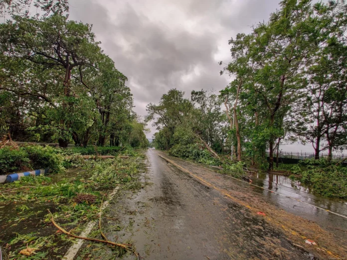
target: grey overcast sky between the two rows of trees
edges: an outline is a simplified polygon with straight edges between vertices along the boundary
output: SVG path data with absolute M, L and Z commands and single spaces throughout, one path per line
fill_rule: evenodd
M 70 1 L 70 18 L 93 24 L 97 40 L 129 79 L 135 112 L 172 88 L 224 88 L 218 60 L 230 37 L 267 19 L 277 0 Z M 150 133 L 151 136 L 154 132 Z

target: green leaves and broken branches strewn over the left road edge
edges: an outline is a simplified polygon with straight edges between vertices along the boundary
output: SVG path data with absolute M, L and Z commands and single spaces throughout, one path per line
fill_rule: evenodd
M 79 167 L 76 177 L 64 178 L 61 171 L 52 178 L 27 176 L 1 185 L 0 243 L 9 259 L 62 258 L 73 239 L 57 232 L 48 209 L 61 227 L 78 235 L 89 221 L 98 219 L 102 200 L 115 186 L 141 188 L 138 176 L 145 171 L 144 154 L 133 149 L 118 154 L 123 156 L 75 162 Z M 77 174 L 82 171 L 82 175 Z M 37 250 L 30 256 L 20 254 L 27 247 Z M 113 251 L 115 255 L 124 253 L 117 248 Z

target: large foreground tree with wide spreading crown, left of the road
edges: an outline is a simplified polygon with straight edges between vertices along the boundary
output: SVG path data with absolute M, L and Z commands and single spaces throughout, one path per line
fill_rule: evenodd
M 40 69 L 47 72 L 46 75 L 40 73 L 40 76 L 45 77 L 39 78 L 42 79 L 39 82 L 39 86 L 41 86 L 39 91 L 33 91 L 30 87 L 30 91 L 27 92 L 15 89 L 11 91 L 18 95 L 35 95 L 52 105 L 53 102 L 50 98 L 42 92 L 45 92 L 47 87 L 59 84 L 62 86 L 62 93 L 58 95 L 60 97 L 59 106 L 63 110 L 68 110 L 69 106 L 73 106 L 73 98 L 76 98 L 76 93 L 71 87 L 71 75 L 78 73 L 78 68 L 81 66 L 92 67 L 101 51 L 98 42 L 94 41 L 95 36 L 91 31 L 91 26 L 67 20 L 65 16 L 58 14 L 39 20 L 15 16 L 13 20 L 0 25 L 0 32 L 1 49 L 5 53 L 5 58 L 29 66 L 29 70 L 24 70 L 31 75 L 33 75 L 31 67 L 34 67 L 36 71 Z M 13 72 L 8 71 L 9 75 Z M 16 83 L 20 84 L 23 81 L 25 89 L 28 85 L 26 84 L 27 78 L 19 79 Z M 69 119 L 69 114 L 60 113 L 60 115 L 63 116 L 60 119 L 60 130 L 64 134 L 58 138 L 58 141 L 60 146 L 66 147 L 67 132 L 73 121 Z

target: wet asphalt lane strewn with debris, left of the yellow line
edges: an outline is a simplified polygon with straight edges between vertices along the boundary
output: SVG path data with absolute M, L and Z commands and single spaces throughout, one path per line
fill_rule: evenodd
M 137 212 L 123 222 L 133 223 L 129 239 L 144 259 L 312 259 L 263 217 L 178 170 L 157 151 L 148 150 L 147 157 L 150 185 L 118 205 Z

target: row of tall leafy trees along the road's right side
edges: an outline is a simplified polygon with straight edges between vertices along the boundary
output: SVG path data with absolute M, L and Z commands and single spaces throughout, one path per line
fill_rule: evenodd
M 268 150 L 270 169 L 285 139 L 311 143 L 316 158 L 346 148 L 346 35 L 344 1 L 283 0 L 268 22 L 229 41 L 232 61 L 221 73 L 233 81 L 219 97 L 202 91 L 186 100 L 171 90 L 148 106 L 156 145 L 200 142 L 254 163 Z

